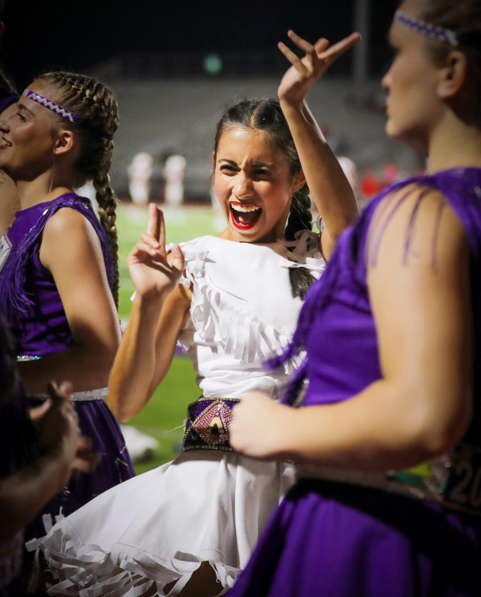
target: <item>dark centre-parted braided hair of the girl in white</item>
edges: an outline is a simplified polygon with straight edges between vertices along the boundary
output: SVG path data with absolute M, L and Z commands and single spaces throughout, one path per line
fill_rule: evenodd
M 286 155 L 291 173 L 295 175 L 301 170 L 299 155 L 278 100 L 251 98 L 230 106 L 217 125 L 215 156 L 222 136 L 235 128 L 248 128 L 266 133 Z M 312 230 L 311 199 L 307 184 L 292 197 L 284 237 L 292 241 L 300 230 Z M 290 267 L 289 279 L 293 296 L 304 298 L 315 278 L 306 267 Z

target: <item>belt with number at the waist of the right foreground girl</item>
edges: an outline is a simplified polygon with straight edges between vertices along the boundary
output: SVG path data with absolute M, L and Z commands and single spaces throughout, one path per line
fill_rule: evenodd
M 298 464 L 297 479 L 364 485 L 481 516 L 481 449 L 459 444 L 450 454 L 406 470 L 365 472 Z

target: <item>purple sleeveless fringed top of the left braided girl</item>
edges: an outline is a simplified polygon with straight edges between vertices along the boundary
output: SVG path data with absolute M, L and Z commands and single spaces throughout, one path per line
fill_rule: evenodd
M 55 281 L 39 259 L 45 224 L 63 207 L 79 211 L 94 227 L 101 242 L 108 282 L 113 288 L 107 236 L 89 199 L 67 193 L 17 211 L 7 233 L 11 251 L 0 269 L 0 312 L 17 339 L 20 355 L 48 355 L 73 343 Z

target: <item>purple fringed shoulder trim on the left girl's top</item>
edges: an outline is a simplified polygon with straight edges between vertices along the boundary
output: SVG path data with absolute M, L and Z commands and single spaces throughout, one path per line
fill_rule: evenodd
M 75 193 L 66 193 L 40 205 L 43 210 L 39 219 L 30 228 L 29 232 L 23 236 L 21 241 L 11 249 L 11 253 L 0 272 L 0 310 L 3 311 L 7 321 L 13 321 L 15 313 L 26 313 L 26 307 L 35 304 L 35 297 L 29 296 L 24 289 L 26 269 L 32 260 L 33 254 L 38 251 L 41 244 L 45 224 L 63 207 L 70 207 L 75 211 L 79 211 L 94 227 L 95 232 L 101 239 L 108 284 L 111 289 L 114 287 L 114 269 L 108 251 L 108 243 L 105 239 L 105 232 L 97 216 L 95 216 L 90 200 L 75 195 Z

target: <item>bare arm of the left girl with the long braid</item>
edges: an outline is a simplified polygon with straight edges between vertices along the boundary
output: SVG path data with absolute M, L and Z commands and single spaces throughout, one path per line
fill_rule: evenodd
M 20 363 L 27 390 L 42 393 L 50 380 L 65 378 L 74 392 L 106 386 L 120 324 L 97 234 L 82 214 L 63 208 L 45 226 L 40 259 L 54 277 L 75 344 Z

